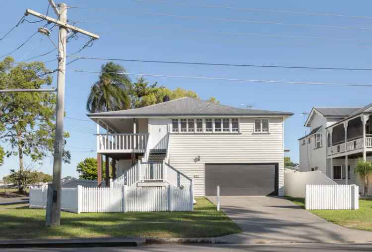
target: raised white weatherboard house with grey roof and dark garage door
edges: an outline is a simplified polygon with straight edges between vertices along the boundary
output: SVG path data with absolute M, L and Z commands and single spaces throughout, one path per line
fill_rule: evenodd
M 213 196 L 216 185 L 225 196 L 284 195 L 284 120 L 291 115 L 194 98 L 88 114 L 106 129 L 97 127 L 97 154 L 114 160 L 114 183 L 155 186 L 177 172 L 176 180 L 193 181 L 194 196 Z M 142 170 L 128 172 L 137 163 Z

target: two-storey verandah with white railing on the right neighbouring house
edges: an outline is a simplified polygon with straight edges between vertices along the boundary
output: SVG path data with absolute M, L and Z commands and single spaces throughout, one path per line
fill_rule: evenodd
M 372 155 L 372 114 L 360 113 L 326 128 L 327 174 L 349 184 L 352 165 Z M 341 164 L 342 163 L 342 164 Z

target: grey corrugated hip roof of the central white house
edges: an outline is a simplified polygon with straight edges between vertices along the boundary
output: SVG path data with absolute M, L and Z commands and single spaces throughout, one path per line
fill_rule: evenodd
M 200 99 L 184 97 L 173 101 L 166 101 L 146 107 L 119 111 L 87 114 L 88 116 L 244 116 L 244 115 L 284 115 L 291 116 L 291 112 L 269 111 L 259 109 L 236 108 Z

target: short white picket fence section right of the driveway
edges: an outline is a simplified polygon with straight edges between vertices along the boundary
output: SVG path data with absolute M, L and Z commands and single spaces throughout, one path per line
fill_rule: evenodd
M 359 187 L 356 185 L 306 185 L 305 208 L 340 210 L 359 208 Z

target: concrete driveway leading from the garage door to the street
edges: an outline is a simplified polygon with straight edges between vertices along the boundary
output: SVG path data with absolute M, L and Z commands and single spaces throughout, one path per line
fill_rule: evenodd
M 208 199 L 216 203 L 215 197 Z M 372 232 L 348 229 L 325 221 L 294 203 L 277 197 L 221 197 L 221 209 L 243 233 L 219 242 L 333 243 L 371 242 Z

